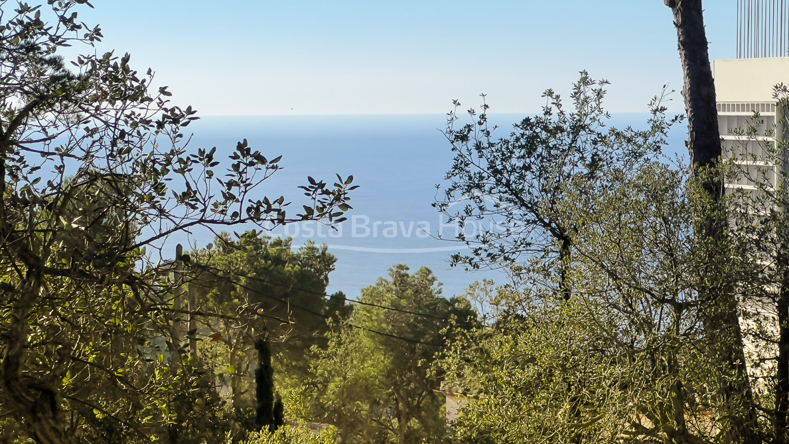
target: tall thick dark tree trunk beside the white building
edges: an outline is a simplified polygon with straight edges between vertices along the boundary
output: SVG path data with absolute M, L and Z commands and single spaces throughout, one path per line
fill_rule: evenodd
M 679 55 L 685 83 L 682 96 L 685 99 L 688 117 L 688 150 L 695 173 L 704 182 L 703 186 L 712 202 L 712 211 L 701 215 L 697 223 L 697 236 L 701 242 L 712 246 L 708 273 L 713 273 L 707 288 L 699 288 L 702 299 L 712 304 L 712 314 L 707 329 L 713 347 L 731 371 L 734 378 L 724 376 L 721 380 L 721 401 L 724 416 L 729 421 L 727 442 L 756 443 L 757 416 L 753 408 L 753 394 L 745 362 L 742 331 L 739 325 L 739 307 L 731 286 L 725 284 L 720 265 L 727 261 L 723 248 L 727 225 L 723 212 L 716 211 L 716 204 L 724 194 L 724 182 L 714 170 L 722 154 L 718 112 L 716 108 L 715 83 L 709 63 L 708 42 L 704 28 L 701 0 L 665 0 L 674 13 L 677 28 Z M 708 169 L 712 167 L 712 169 Z

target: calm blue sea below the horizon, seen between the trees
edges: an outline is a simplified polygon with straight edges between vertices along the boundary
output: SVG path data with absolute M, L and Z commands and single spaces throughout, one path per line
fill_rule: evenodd
M 495 115 L 492 120 L 502 126 L 503 136 L 511 123 L 523 117 Z M 342 224 L 342 232 L 331 237 L 314 223 L 294 225 L 288 231 L 296 245 L 308 239 L 327 243 L 337 256 L 330 292 L 342 290 L 357 297 L 361 288 L 385 276 L 391 266 L 404 263 L 412 270 L 429 267 L 443 283 L 444 295 L 456 295 L 476 280 L 503 283 L 506 276 L 451 269 L 448 258 L 462 246 L 425 232 L 435 236 L 443 231 L 448 238 L 456 232 L 431 206 L 436 184 L 443 182 L 453 157 L 439 131 L 445 119 L 443 115 L 204 117 L 189 130 L 194 132 L 192 149 L 216 146 L 219 155 L 230 154 L 236 142 L 246 138 L 252 149 L 269 159 L 282 155 L 284 169 L 264 182 L 260 198 L 284 195 L 294 201 L 290 213 L 301 208 L 297 186 L 305 184 L 308 175 L 330 183 L 335 182 L 335 172 L 354 176 L 354 184 L 361 188 L 353 192 L 352 219 Z M 643 126 L 645 119 L 646 115 L 616 115 L 614 123 Z M 672 133 L 668 152 L 685 151 L 684 134 L 684 126 Z M 275 231 L 282 234 L 282 228 Z M 189 239 L 169 242 L 202 247 L 212 240 L 211 233 L 196 231 Z

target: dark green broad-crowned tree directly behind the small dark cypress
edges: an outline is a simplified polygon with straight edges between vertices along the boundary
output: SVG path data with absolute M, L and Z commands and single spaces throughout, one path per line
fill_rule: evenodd
M 327 319 L 344 318 L 352 309 L 342 293 L 327 298 L 336 262 L 327 247 L 310 244 L 294 251 L 291 244 L 256 231 L 240 239 L 222 233 L 193 254 L 189 286 L 196 289 L 196 308 L 229 314 L 196 325 L 195 334 L 207 340 L 200 342 L 200 359 L 227 390 L 234 420 L 250 429 L 258 403 L 260 339 L 270 348 L 278 386 L 287 389 L 289 382 L 309 378 L 310 349 L 326 347 Z

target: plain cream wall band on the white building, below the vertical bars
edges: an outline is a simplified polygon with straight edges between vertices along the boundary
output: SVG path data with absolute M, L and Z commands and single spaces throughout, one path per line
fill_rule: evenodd
M 789 85 L 789 57 L 712 62 L 718 102 L 775 102 L 772 87 Z

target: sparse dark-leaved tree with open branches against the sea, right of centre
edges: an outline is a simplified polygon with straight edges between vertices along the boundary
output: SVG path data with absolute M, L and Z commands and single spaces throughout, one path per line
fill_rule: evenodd
M 482 223 L 473 235 L 462 232 L 454 239 L 470 251 L 454 255 L 454 265 L 508 268 L 516 274 L 550 268 L 555 275 L 545 284 L 570 298 L 567 273 L 578 226 L 558 211 L 567 198 L 567 185 L 578 175 L 603 179 L 611 167 L 627 169 L 655 156 L 666 144 L 671 125 L 680 119 L 665 115 L 664 94 L 651 104 L 647 130 L 610 127 L 611 116 L 603 108 L 607 84 L 581 72 L 570 108 L 557 92 L 548 90 L 548 105 L 540 115 L 526 117 L 507 137 L 499 138 L 497 128 L 488 123 L 486 103 L 481 113 L 470 109 L 471 122 L 461 124 L 460 103 L 455 102 L 444 133 L 454 163 L 443 198 L 434 206 L 464 227 L 473 220 Z M 458 203 L 465 205 L 458 210 Z

